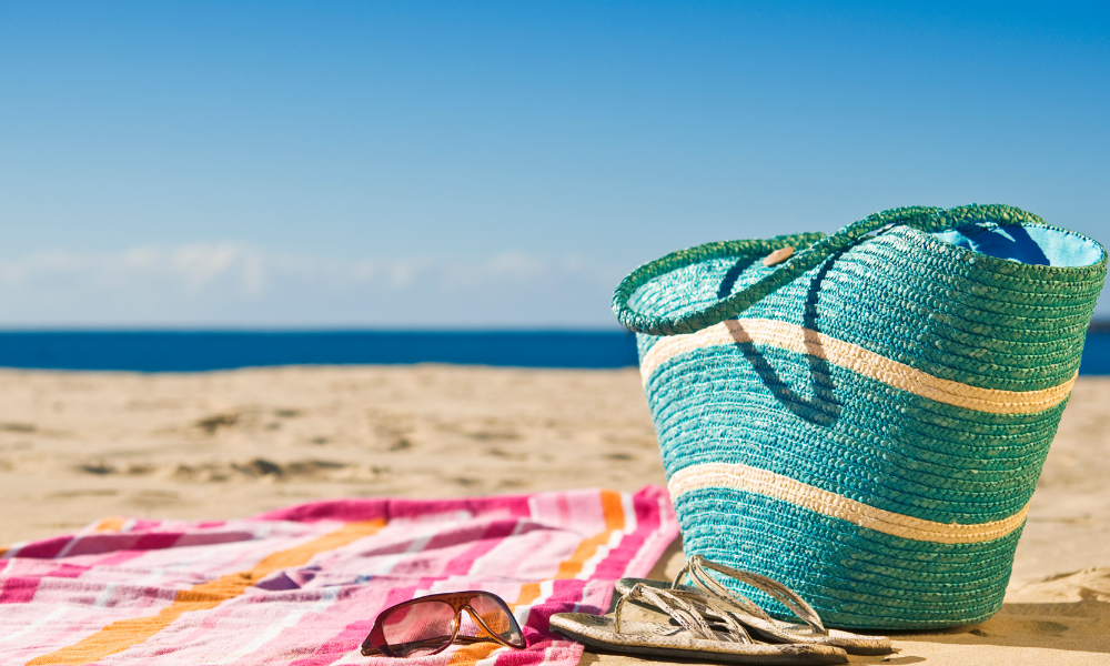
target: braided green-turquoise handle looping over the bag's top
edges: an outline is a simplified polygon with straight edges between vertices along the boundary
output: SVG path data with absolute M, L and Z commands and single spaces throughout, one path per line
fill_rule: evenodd
M 617 315 L 617 321 L 637 333 L 648 335 L 695 333 L 738 315 L 768 294 L 795 281 L 806 271 L 816 268 L 833 254 L 859 242 L 872 231 L 899 224 L 925 232 L 948 231 L 975 220 L 995 220 L 1003 225 L 1015 225 L 1022 222 L 1045 223 L 1032 213 L 1001 204 L 971 204 L 949 210 L 916 205 L 872 213 L 862 220 L 852 222 L 833 235 L 800 233 L 769 240 L 706 243 L 673 252 L 633 271 L 620 281 L 613 294 L 613 312 Z M 803 248 L 803 250 L 754 284 L 700 310 L 680 316 L 653 316 L 637 312 L 628 305 L 628 300 L 636 290 L 673 271 L 710 259 L 766 256 L 787 245 L 795 249 Z

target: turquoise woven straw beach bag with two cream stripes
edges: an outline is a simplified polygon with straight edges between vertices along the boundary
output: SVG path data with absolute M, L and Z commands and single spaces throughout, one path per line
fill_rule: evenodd
M 634 271 L 614 311 L 686 556 L 770 576 L 833 626 L 992 615 L 1106 272 L 1093 240 L 1005 205 Z

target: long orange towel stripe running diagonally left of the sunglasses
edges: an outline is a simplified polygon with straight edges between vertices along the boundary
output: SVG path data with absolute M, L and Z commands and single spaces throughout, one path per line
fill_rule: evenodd
M 183 613 L 191 610 L 208 610 L 232 599 L 280 568 L 306 564 L 319 553 L 333 551 L 341 546 L 370 536 L 385 526 L 385 521 L 366 521 L 347 523 L 343 528 L 325 534 L 306 544 L 279 551 L 268 555 L 254 568 L 221 576 L 208 583 L 182 589 L 169 606 L 158 615 L 121 619 L 114 622 L 92 636 L 69 647 L 36 657 L 27 666 L 46 666 L 47 664 L 89 664 L 109 655 L 121 653 L 129 647 L 139 645 L 170 626 Z

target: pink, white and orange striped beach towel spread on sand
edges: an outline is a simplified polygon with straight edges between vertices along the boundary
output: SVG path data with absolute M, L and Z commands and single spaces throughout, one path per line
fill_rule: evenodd
M 528 648 L 454 645 L 422 666 L 573 666 L 554 613 L 604 613 L 677 536 L 665 491 L 352 498 L 246 519 L 105 518 L 0 548 L 0 664 L 370 664 L 377 613 L 484 589 Z

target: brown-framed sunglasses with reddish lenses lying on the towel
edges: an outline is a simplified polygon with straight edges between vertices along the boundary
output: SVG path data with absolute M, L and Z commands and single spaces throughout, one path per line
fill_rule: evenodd
M 431 594 L 382 610 L 370 636 L 362 642 L 362 654 L 424 657 L 443 652 L 456 640 L 494 640 L 516 649 L 528 646 L 521 625 L 501 597 L 470 591 Z

